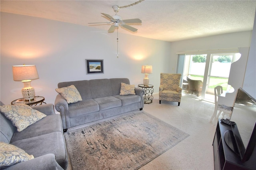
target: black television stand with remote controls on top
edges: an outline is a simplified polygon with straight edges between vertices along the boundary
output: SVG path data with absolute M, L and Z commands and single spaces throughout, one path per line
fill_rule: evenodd
M 238 131 L 236 126 L 233 127 L 235 132 Z M 213 140 L 213 151 L 214 151 L 214 169 L 215 170 L 255 170 L 256 169 L 256 148 L 252 153 L 250 159 L 246 162 L 242 162 L 240 156 L 235 153 L 225 142 L 224 134 L 226 131 L 230 133 L 232 130 L 230 125 L 226 125 L 218 120 L 214 140 Z M 227 137 L 228 134 L 226 134 Z M 230 135 L 230 134 L 229 134 Z M 236 134 L 240 136 L 239 134 Z M 230 138 L 231 139 L 231 138 Z M 232 139 L 231 139 L 232 140 Z M 234 146 L 236 147 L 236 146 Z

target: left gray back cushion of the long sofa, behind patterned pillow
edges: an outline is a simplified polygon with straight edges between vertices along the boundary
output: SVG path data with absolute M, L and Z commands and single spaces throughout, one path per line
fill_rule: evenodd
M 68 87 L 70 85 L 74 85 L 76 87 L 83 100 L 92 99 L 89 80 L 61 82 L 58 83 L 58 88 Z

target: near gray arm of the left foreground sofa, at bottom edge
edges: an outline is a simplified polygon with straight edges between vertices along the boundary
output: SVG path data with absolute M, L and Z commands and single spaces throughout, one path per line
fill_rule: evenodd
M 63 170 L 54 154 L 46 154 L 25 162 L 9 166 L 6 170 Z

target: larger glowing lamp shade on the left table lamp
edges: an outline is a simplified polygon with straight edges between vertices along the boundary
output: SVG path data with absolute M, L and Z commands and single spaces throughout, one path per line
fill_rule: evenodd
M 12 66 L 14 81 L 39 79 L 36 65 L 15 65 Z

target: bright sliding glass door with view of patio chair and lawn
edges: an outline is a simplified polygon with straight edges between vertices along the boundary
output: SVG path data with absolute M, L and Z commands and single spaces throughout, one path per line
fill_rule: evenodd
M 183 68 L 183 93 L 214 101 L 214 87 L 220 85 L 223 91 L 231 88 L 228 85 L 230 67 L 239 57 L 240 53 L 185 55 L 183 65 L 178 65 Z

